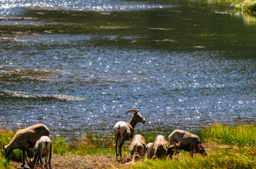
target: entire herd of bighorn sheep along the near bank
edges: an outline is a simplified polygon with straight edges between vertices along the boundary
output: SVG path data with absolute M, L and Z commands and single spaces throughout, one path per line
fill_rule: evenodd
M 200 138 L 192 133 L 184 130 L 174 130 L 169 135 L 169 143 L 171 146 L 167 146 L 164 136 L 158 135 L 154 143 L 148 143 L 140 134 L 134 136 L 134 127 L 138 122 L 145 123 L 145 119 L 141 116 L 138 109 L 130 109 L 126 112 L 133 112 L 133 117 L 129 123 L 117 122 L 115 124 L 115 157 L 122 157 L 121 147 L 125 141 L 132 139 L 131 141 L 131 155 L 133 156 L 133 162 L 145 156 L 147 152 L 147 158 L 165 158 L 173 155 L 178 155 L 180 150 L 190 152 L 193 156 L 194 153 L 201 153 L 207 155 L 205 147 L 203 146 Z M 51 169 L 51 140 L 49 139 L 50 130 L 44 124 L 36 124 L 26 129 L 20 129 L 17 131 L 12 141 L 3 146 L 5 154 L 9 154 L 14 149 L 22 150 L 22 165 L 25 166 L 25 160 L 31 169 L 36 169 L 36 166 L 40 159 L 40 167 L 42 167 L 42 157 L 46 158 L 46 167 Z M 118 152 L 117 152 L 117 143 Z M 34 148 L 33 158 L 29 158 L 29 148 Z M 175 153 L 175 154 L 174 154 Z M 25 156 L 27 158 L 25 158 Z

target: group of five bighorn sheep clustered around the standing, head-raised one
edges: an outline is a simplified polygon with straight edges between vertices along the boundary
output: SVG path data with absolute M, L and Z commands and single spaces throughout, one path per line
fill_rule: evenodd
M 190 153 L 191 157 L 193 157 L 194 153 L 200 153 L 202 155 L 207 155 L 205 147 L 203 146 L 200 138 L 192 133 L 186 132 L 184 130 L 174 130 L 168 137 L 170 147 L 167 146 L 166 140 L 164 136 L 158 135 L 154 143 L 148 143 L 146 145 L 146 141 L 140 134 L 134 135 L 134 127 L 138 122 L 145 123 L 145 119 L 141 116 L 141 113 L 138 109 L 130 109 L 126 112 L 133 112 L 133 117 L 129 123 L 127 122 L 117 122 L 115 124 L 115 157 L 122 157 L 121 155 L 121 147 L 123 143 L 132 139 L 131 141 L 131 155 L 133 156 L 133 162 L 136 159 L 144 157 L 147 152 L 147 157 L 152 158 L 165 158 L 169 155 L 172 158 L 173 155 L 178 155 L 180 150 L 184 150 Z M 118 152 L 117 152 L 117 143 Z M 174 154 L 175 153 L 175 154 Z

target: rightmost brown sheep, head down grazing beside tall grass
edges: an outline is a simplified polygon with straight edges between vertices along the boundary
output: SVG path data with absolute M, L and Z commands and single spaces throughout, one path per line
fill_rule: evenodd
M 174 144 L 176 149 L 189 152 L 191 157 L 193 157 L 194 153 L 207 155 L 205 147 L 203 146 L 200 138 L 195 134 L 186 132 L 184 130 L 174 130 L 169 135 L 168 139 L 170 144 Z

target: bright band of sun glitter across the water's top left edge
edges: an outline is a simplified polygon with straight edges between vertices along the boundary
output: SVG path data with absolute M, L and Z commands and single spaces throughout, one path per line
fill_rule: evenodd
M 48 10 L 79 10 L 79 11 L 130 11 L 147 10 L 163 7 L 174 7 L 174 5 L 151 4 L 143 1 L 121 1 L 121 0 L 1 0 L 0 13 L 2 16 L 15 15 L 22 8 L 48 9 Z

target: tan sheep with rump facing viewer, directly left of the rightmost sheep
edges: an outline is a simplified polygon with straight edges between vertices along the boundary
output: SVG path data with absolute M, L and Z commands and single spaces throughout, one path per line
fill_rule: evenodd
M 165 158 L 167 156 L 167 143 L 164 138 L 164 136 L 158 135 L 156 136 L 155 142 L 154 142 L 154 154 L 157 158 Z

